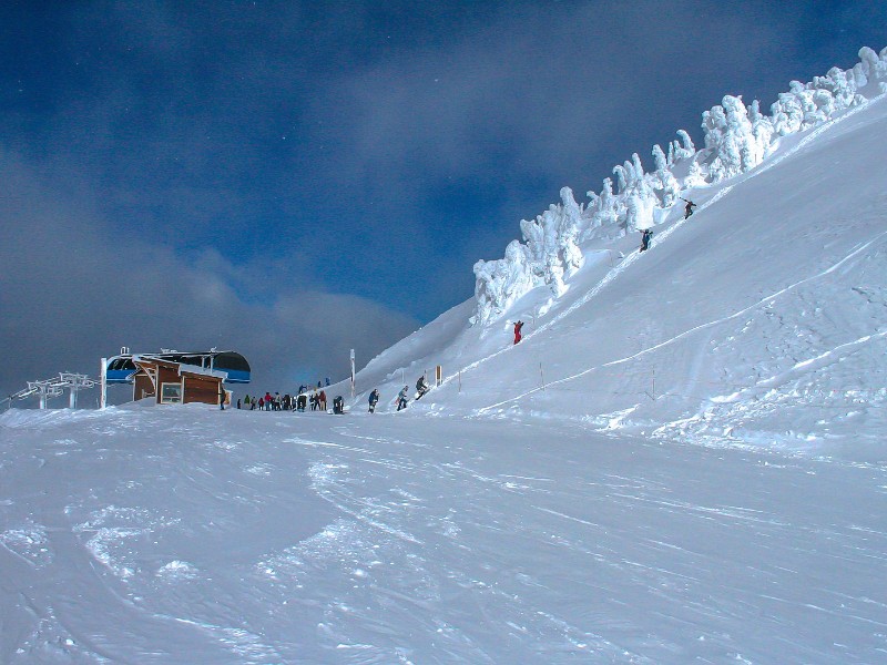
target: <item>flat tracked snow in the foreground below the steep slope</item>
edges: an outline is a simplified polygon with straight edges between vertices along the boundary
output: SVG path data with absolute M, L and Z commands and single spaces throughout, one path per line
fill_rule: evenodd
M 881 467 L 409 412 L 31 415 L 0 417 L 4 663 L 887 656 Z

